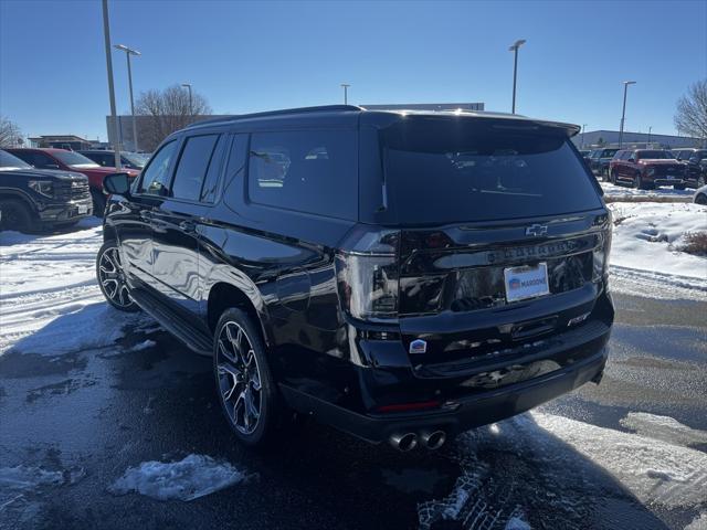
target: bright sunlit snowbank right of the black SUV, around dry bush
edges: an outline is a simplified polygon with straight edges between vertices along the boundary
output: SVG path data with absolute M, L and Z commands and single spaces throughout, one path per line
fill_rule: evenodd
M 707 206 L 643 202 L 612 203 L 610 208 L 614 219 L 614 272 L 630 275 L 637 271 L 657 283 L 680 283 L 707 290 L 707 258 L 677 250 L 686 233 L 707 231 Z

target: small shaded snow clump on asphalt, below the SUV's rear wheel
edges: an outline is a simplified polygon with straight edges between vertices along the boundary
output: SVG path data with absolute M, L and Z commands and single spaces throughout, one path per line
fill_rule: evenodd
M 125 471 L 108 490 L 115 495 L 137 491 L 158 500 L 193 500 L 247 478 L 229 463 L 189 455 L 180 462 L 144 462 Z

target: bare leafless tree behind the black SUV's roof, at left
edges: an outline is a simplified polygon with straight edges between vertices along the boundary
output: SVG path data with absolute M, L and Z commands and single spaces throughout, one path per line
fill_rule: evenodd
M 140 146 L 151 151 L 173 131 L 196 121 L 199 116 L 210 115 L 211 107 L 201 94 L 193 92 L 190 99 L 188 91 L 172 85 L 163 91 L 141 93 L 135 104 L 135 114 L 149 116 L 138 124 Z

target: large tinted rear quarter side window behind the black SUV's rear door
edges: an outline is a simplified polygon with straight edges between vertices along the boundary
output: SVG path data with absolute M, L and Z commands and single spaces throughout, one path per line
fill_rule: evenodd
M 293 130 L 251 138 L 249 199 L 331 218 L 358 216 L 356 132 Z

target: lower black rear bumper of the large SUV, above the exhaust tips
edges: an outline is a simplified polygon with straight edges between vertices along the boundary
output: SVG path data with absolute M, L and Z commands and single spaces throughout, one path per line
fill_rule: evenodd
M 540 378 L 447 402 L 442 410 L 416 414 L 359 414 L 281 385 L 291 406 L 370 443 L 381 443 L 393 434 L 444 431 L 456 435 L 469 428 L 520 414 L 582 384 L 599 381 L 606 363 L 606 348 L 573 365 Z

